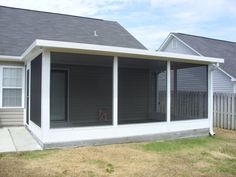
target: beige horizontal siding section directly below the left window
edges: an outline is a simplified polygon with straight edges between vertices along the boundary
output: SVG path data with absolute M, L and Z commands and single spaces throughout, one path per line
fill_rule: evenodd
M 0 109 L 0 127 L 23 126 L 23 118 L 23 108 Z

